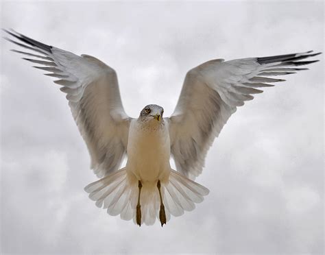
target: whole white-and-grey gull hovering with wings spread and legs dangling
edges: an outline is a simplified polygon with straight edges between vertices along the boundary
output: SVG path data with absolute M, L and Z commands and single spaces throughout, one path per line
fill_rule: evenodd
M 202 173 L 209 147 L 238 106 L 261 88 L 283 82 L 274 76 L 307 70 L 299 66 L 320 53 L 307 51 L 263 58 L 210 60 L 186 73 L 176 108 L 170 117 L 148 104 L 134 119 L 125 113 L 117 73 L 101 60 L 38 42 L 3 29 L 36 69 L 57 78 L 73 119 L 91 156 L 99 180 L 84 189 L 96 206 L 112 216 L 141 226 L 161 226 L 191 211 L 209 191 L 194 182 Z M 27 51 L 26 51 L 27 50 Z M 300 61 L 303 60 L 303 61 Z M 121 168 L 123 158 L 125 167 Z M 171 168 L 173 158 L 176 170 Z

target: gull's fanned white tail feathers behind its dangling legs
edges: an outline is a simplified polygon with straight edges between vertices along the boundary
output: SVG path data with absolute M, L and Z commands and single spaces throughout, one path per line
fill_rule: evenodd
M 96 206 L 107 209 L 112 216 L 120 215 L 121 219 L 136 223 L 136 204 L 139 188 L 129 182 L 125 168 L 86 186 L 89 197 L 96 201 Z M 171 215 L 180 216 L 184 211 L 195 208 L 195 204 L 203 201 L 208 189 L 189 180 L 177 171 L 171 170 L 168 182 L 162 182 L 161 192 L 165 204 L 167 221 Z M 152 225 L 159 219 L 160 197 L 155 183 L 144 183 L 141 191 L 141 224 Z

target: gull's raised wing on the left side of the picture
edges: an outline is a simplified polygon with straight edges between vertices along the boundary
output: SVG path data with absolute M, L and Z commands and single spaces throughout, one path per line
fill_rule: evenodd
M 59 79 L 54 82 L 67 93 L 96 175 L 101 178 L 117 171 L 128 144 L 130 118 L 123 109 L 115 71 L 92 56 L 77 56 L 17 32 L 5 32 L 11 36 L 7 40 L 33 53 L 12 51 L 28 56 L 23 59 L 49 72 L 45 75 Z

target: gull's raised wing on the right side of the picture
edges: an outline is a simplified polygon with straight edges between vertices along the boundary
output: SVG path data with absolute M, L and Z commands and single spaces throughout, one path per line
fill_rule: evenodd
M 258 88 L 285 81 L 269 76 L 306 70 L 297 66 L 318 60 L 298 60 L 320 54 L 311 52 L 227 62 L 210 60 L 191 69 L 169 117 L 171 154 L 177 170 L 189 178 L 200 175 L 208 148 L 237 106 L 263 92 Z

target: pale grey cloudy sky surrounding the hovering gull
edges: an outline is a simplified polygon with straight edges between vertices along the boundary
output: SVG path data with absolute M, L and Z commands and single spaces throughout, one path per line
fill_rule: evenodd
M 1 23 L 112 66 L 132 117 L 171 114 L 207 60 L 324 51 L 322 1 L 2 1 Z M 64 94 L 13 47 L 1 40 L 1 253 L 323 253 L 323 55 L 230 118 L 197 178 L 202 204 L 139 228 L 88 199 L 97 179 Z

